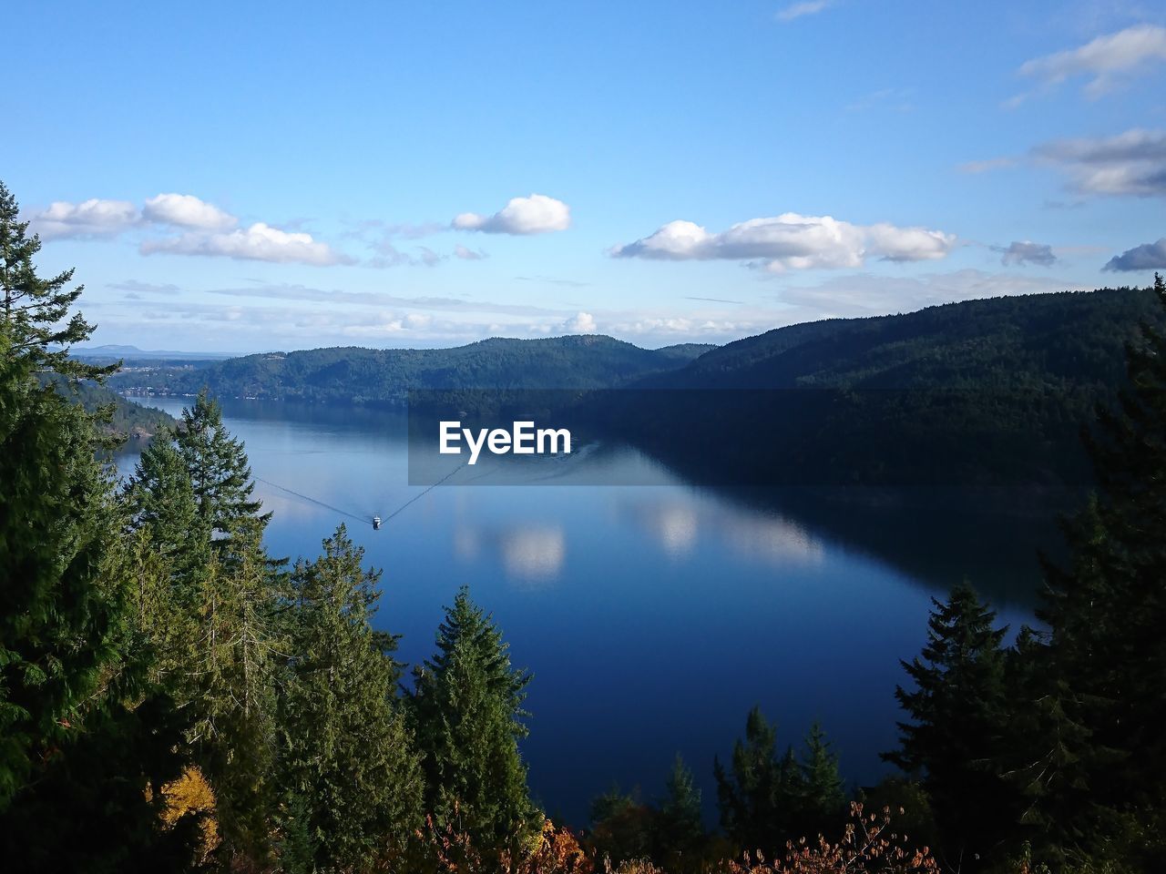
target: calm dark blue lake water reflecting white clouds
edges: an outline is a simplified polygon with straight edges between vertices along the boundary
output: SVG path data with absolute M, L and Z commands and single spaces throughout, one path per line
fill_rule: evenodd
M 183 402 L 152 403 L 177 415 Z M 401 422 L 387 414 L 247 401 L 224 413 L 255 477 L 345 513 L 385 516 L 422 492 L 406 485 Z M 410 663 L 470 585 L 534 674 L 531 785 L 577 825 L 613 782 L 656 796 L 677 752 L 711 812 L 712 757 L 729 755 L 754 704 L 782 746 L 821 720 L 848 781 L 872 782 L 895 742 L 898 660 L 923 644 L 929 599 L 967 577 L 1002 621 L 1031 621 L 1045 526 L 957 501 L 936 513 L 710 492 L 633 451 L 576 464 L 607 465 L 612 481 L 621 465 L 638 482 L 647 468 L 662 485 L 447 485 L 380 531 L 266 482 L 257 494 L 274 512 L 274 554 L 315 556 L 347 524 L 384 569 L 377 622 L 403 635 Z

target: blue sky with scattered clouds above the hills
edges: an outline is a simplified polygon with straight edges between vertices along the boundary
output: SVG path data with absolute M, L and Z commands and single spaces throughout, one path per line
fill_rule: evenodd
M 1160 2 L 16 3 L 0 179 L 92 344 L 798 322 L 1166 270 Z

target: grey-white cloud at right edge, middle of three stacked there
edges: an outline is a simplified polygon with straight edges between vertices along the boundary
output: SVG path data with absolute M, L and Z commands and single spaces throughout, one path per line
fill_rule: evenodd
M 1058 140 L 1034 154 L 1068 174 L 1081 193 L 1166 196 L 1164 131 L 1133 129 L 1102 139 Z

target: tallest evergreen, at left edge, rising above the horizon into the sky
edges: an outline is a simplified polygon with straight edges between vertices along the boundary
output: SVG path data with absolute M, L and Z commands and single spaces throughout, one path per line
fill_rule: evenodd
M 72 272 L 41 280 L 40 249 L 0 184 L 0 857 L 22 872 L 181 871 L 189 822 L 163 832 L 147 790 L 176 775 L 181 732 L 145 681 L 121 517 L 96 421 L 58 394 L 106 371 L 68 358 Z

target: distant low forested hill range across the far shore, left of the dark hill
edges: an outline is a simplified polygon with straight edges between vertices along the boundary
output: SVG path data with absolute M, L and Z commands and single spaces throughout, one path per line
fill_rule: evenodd
M 492 338 L 456 348 L 353 346 L 232 358 L 198 369 L 138 367 L 110 380 L 120 390 L 337 403 L 401 403 L 410 388 L 610 388 L 683 367 L 714 348 L 645 350 L 603 336 Z

